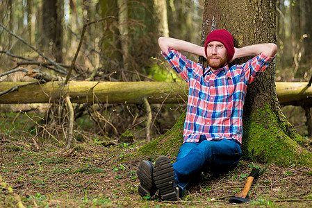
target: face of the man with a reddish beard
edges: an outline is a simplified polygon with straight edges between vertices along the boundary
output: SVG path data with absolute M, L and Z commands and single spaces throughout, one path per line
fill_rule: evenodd
M 208 65 L 215 71 L 227 65 L 227 49 L 224 44 L 218 41 L 209 42 L 207 45 L 207 62 Z

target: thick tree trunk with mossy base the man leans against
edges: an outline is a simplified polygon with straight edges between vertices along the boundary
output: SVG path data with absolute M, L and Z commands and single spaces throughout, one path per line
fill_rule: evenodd
M 204 37 L 213 29 L 226 28 L 233 35 L 236 47 L 276 42 L 276 17 L 276 1 L 205 1 Z M 182 141 L 183 116 L 170 132 L 143 146 L 140 153 L 175 157 Z M 244 159 L 283 166 L 293 163 L 311 166 L 311 153 L 299 146 L 303 143 L 302 137 L 279 108 L 274 85 L 274 63 L 247 89 L 243 132 Z

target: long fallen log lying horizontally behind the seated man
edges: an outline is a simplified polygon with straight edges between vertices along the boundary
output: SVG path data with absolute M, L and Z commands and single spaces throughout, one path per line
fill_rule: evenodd
M 277 97 L 281 105 L 312 103 L 312 87 L 308 83 L 276 83 Z M 23 85 L 22 87 L 16 87 Z M 0 103 L 53 103 L 69 96 L 72 103 L 186 103 L 186 83 L 170 82 L 88 82 L 71 81 L 49 83 L 0 83 Z

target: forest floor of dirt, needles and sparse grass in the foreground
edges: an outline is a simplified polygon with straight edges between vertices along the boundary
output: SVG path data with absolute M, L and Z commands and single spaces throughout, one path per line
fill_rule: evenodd
M 243 205 L 229 204 L 242 191 L 252 168 L 241 161 L 223 175 L 205 175 L 179 202 L 138 195 L 139 146 L 76 144 L 71 150 L 2 141 L 0 207 L 312 207 L 311 169 L 271 164 L 254 181 Z M 172 158 L 174 161 L 174 158 Z M 12 189 L 10 189 L 10 187 Z

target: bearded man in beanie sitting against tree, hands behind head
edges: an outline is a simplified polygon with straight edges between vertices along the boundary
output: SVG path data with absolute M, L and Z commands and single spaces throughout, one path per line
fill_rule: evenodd
M 237 166 L 247 86 L 272 62 L 277 46 L 235 48 L 232 35 L 224 29 L 209 33 L 204 47 L 170 37 L 160 37 L 158 44 L 170 66 L 188 83 L 183 144 L 174 164 L 165 156 L 158 157 L 155 166 L 147 160 L 139 164 L 138 193 L 153 196 L 159 189 L 163 200 L 175 201 L 202 172 L 221 173 Z M 208 67 L 179 51 L 204 56 Z M 247 56 L 254 58 L 229 67 L 236 58 Z

